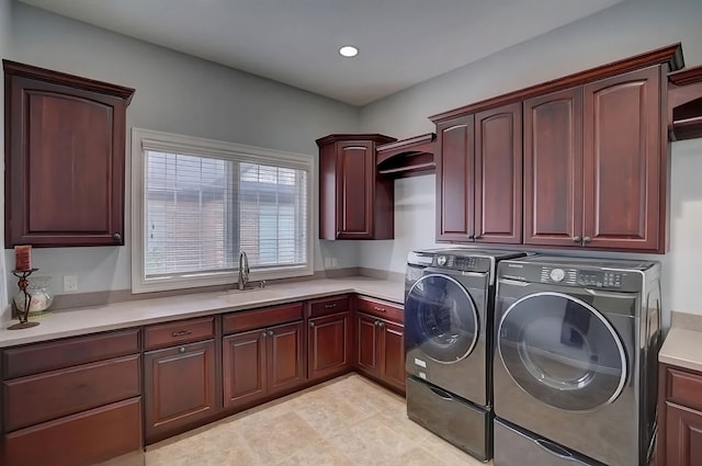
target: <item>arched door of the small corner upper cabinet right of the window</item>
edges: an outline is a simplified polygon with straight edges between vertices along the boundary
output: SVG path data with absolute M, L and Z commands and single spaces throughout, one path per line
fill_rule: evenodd
M 337 143 L 337 238 L 373 238 L 375 157 L 372 143 Z

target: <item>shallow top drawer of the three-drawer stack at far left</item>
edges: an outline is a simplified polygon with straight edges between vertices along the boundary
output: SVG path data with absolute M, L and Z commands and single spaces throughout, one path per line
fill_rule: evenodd
M 11 348 L 2 355 L 4 378 L 109 360 L 139 351 L 139 329 Z

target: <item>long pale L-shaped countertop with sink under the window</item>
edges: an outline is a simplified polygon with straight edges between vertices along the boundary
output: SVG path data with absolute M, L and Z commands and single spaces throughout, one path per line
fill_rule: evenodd
M 401 304 L 404 282 L 349 276 L 272 284 L 262 289 L 245 292 L 199 293 L 152 299 L 137 299 L 105 306 L 61 309 L 41 318 L 37 327 L 0 330 L 0 348 L 54 340 L 86 333 L 137 327 L 189 317 L 207 316 L 234 310 L 314 299 L 341 293 L 386 299 Z M 16 320 L 11 323 L 15 323 Z

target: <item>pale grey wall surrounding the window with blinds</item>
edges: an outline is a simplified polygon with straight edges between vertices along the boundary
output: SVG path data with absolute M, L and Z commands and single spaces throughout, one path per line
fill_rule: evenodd
M 350 105 L 24 3 L 13 7 L 13 47 L 5 50 L 8 58 L 135 88 L 127 129 L 136 126 L 312 155 L 318 151 L 316 138 L 358 130 L 359 111 Z M 1 24 L 0 31 L 5 31 Z M 127 143 L 127 156 L 128 148 Z M 127 161 L 127 206 L 129 167 Z M 129 288 L 128 208 L 125 218 L 124 247 L 34 249 L 37 275 L 49 276 L 55 293 L 63 293 L 61 276 L 67 274 L 78 275 L 79 292 Z M 317 270 L 322 268 L 320 248 L 316 242 Z M 344 255 L 342 246 L 327 246 L 324 252 Z M 11 250 L 5 258 L 12 266 Z

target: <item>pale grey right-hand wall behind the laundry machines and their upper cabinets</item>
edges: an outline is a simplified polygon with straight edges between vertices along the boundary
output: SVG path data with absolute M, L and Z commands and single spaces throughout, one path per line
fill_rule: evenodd
M 702 64 L 701 19 L 699 0 L 629 0 L 370 104 L 361 130 L 399 138 L 432 132 L 429 115 L 678 42 L 693 67 Z M 670 252 L 642 255 L 663 262 L 666 322 L 670 309 L 702 315 L 700 173 L 702 139 L 673 143 Z M 395 182 L 396 239 L 362 243 L 361 266 L 401 272 L 410 249 L 435 246 L 433 183 L 433 175 Z

